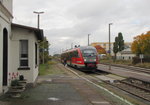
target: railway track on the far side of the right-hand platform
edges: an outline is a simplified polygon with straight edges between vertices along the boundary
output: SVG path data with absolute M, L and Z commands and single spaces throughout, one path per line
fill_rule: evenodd
M 102 64 L 109 65 L 108 63 L 102 63 Z M 150 69 L 147 69 L 147 68 L 140 68 L 140 67 L 134 67 L 134 66 L 126 66 L 126 65 L 120 65 L 120 64 L 111 64 L 111 66 L 126 68 L 126 69 L 129 69 L 129 70 L 132 70 L 132 71 L 137 71 L 137 72 L 142 72 L 142 73 L 150 74 Z

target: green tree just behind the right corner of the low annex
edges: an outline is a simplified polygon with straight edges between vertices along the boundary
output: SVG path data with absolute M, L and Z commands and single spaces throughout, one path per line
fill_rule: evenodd
M 44 40 L 40 42 L 39 49 L 40 49 L 40 63 L 46 63 L 49 60 L 49 42 L 46 37 Z

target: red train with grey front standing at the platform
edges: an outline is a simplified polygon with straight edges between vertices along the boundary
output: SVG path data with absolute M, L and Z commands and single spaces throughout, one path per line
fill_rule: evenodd
M 97 50 L 92 46 L 67 50 L 61 54 L 61 62 L 76 68 L 96 69 L 98 64 Z

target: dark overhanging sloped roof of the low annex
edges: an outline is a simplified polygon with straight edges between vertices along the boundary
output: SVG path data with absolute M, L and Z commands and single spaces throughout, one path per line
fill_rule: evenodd
M 44 39 L 44 34 L 43 34 L 43 30 L 42 29 L 29 27 L 29 26 L 24 26 L 24 25 L 15 24 L 15 23 L 12 23 L 11 27 L 18 27 L 18 28 L 23 28 L 23 29 L 34 31 L 34 33 L 35 33 L 35 35 L 36 35 L 38 40 L 42 41 Z

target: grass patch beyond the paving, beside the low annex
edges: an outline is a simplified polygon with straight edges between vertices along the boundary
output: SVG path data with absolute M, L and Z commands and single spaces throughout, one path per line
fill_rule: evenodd
M 39 68 L 39 75 L 56 75 L 63 74 L 64 72 L 58 68 L 57 62 L 49 61 L 46 64 L 41 64 Z

